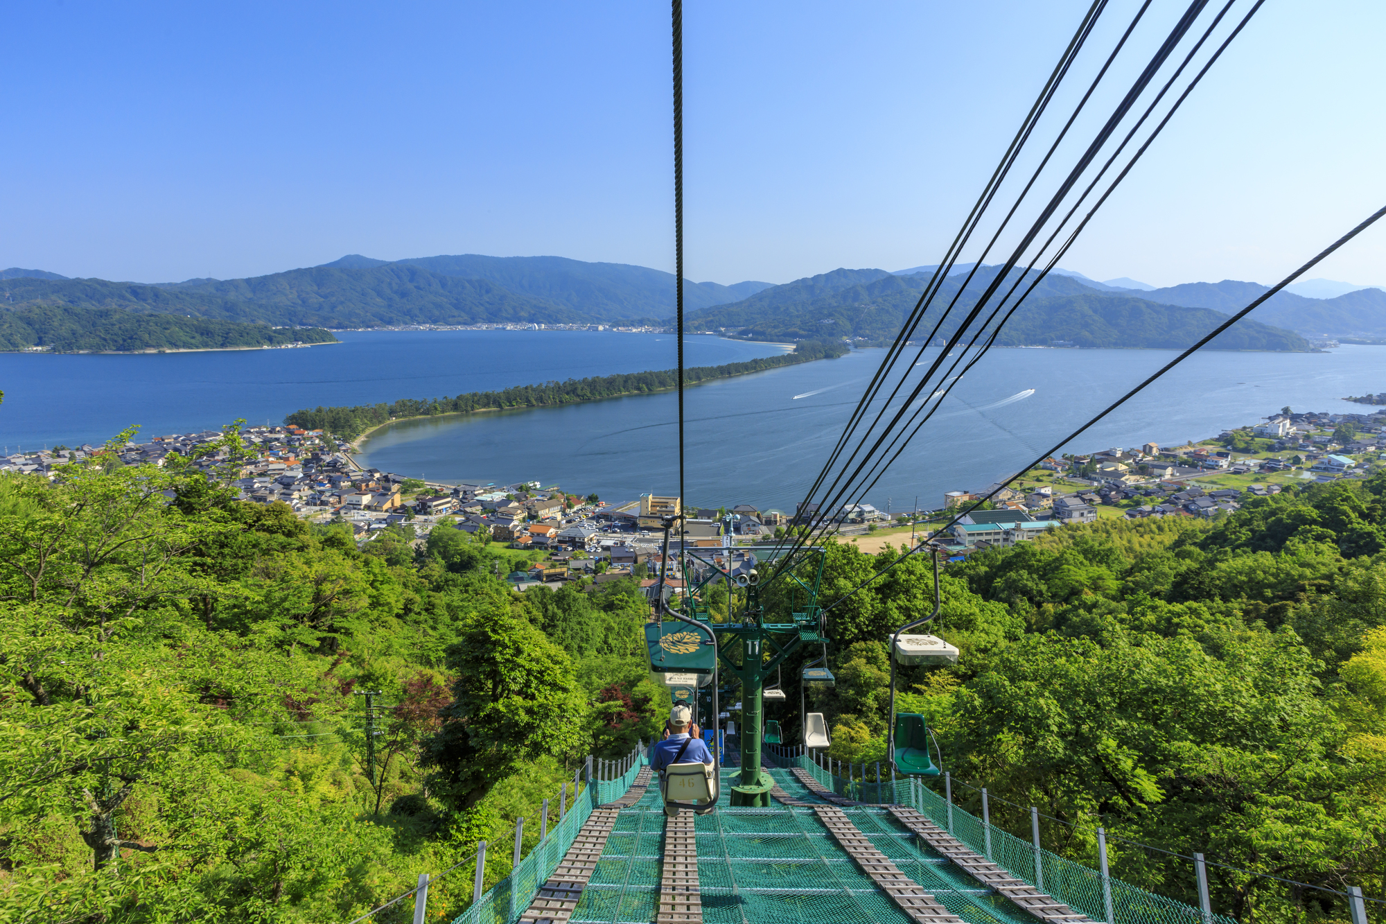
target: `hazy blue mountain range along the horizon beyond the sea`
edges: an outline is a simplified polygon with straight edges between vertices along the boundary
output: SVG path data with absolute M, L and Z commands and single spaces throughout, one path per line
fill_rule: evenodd
M 958 296 L 972 264 L 944 286 Z M 936 266 L 902 271 L 837 269 L 775 286 L 685 286 L 689 329 L 789 340 L 823 336 L 893 339 Z M 959 297 L 969 307 L 995 266 L 977 271 Z M 298 327 L 377 327 L 473 323 L 668 323 L 674 275 L 626 264 L 563 257 L 480 254 L 384 261 L 348 254 L 322 266 L 249 279 L 129 283 L 67 279 L 39 269 L 0 271 L 0 302 L 11 309 L 64 307 L 179 315 L 234 323 Z M 1303 291 L 1339 291 L 1350 283 L 1306 280 Z M 1056 269 L 1008 323 L 1008 345 L 1071 341 L 1078 345 L 1149 347 L 1192 341 L 1225 314 L 1267 291 L 1249 282 L 1185 283 L 1156 289 L 1130 277 L 1098 282 Z M 96 315 L 87 315 L 96 318 Z M 42 316 L 35 316 L 42 322 Z M 1278 293 L 1218 345 L 1234 350 L 1306 350 L 1303 334 L 1386 336 L 1386 291 L 1353 289 L 1326 298 Z M 24 325 L 29 327 L 30 325 Z M 944 327 L 944 333 L 948 333 Z M 8 337 L 14 341 L 15 336 Z M 37 330 L 36 336 L 44 336 Z M 918 336 L 923 336 L 920 332 Z

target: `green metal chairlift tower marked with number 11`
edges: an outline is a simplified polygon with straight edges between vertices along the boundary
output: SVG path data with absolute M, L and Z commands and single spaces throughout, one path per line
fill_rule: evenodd
M 664 548 L 669 529 L 665 522 Z M 668 562 L 668 551 L 664 561 Z M 708 674 L 730 671 L 742 685 L 742 766 L 732 787 L 733 806 L 771 805 L 775 782 L 761 770 L 766 678 L 801 645 L 826 645 L 818 587 L 825 551 L 779 545 L 687 547 L 679 551 L 685 594 L 678 609 L 657 594 L 661 617 L 644 628 L 650 670 Z M 661 570 L 663 573 L 663 570 Z M 715 609 L 708 597 L 725 585 L 726 602 Z M 714 678 L 715 695 L 718 681 Z M 714 723 L 717 721 L 714 706 Z

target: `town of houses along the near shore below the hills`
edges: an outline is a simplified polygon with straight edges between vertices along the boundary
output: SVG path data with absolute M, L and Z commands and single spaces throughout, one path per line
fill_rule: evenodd
M 211 470 L 229 461 L 226 448 L 211 445 L 222 436 L 218 430 L 161 436 L 129 444 L 118 456 L 126 465 L 164 465 L 170 454 L 198 455 L 197 463 Z M 240 476 L 234 486 L 241 499 L 284 504 L 304 519 L 345 524 L 360 545 L 392 527 L 420 548 L 435 529 L 462 530 L 523 554 L 510 558 L 516 569 L 509 580 L 517 590 L 575 580 L 599 585 L 631 577 L 653 588 L 663 522 L 685 513 L 676 497 L 643 494 L 608 504 L 595 494 L 570 494 L 539 481 L 441 483 L 363 469 L 349 444 L 320 430 L 247 427 L 241 441 L 244 458 L 233 472 Z M 61 465 L 105 452 L 90 444 L 15 452 L 0 456 L 0 470 L 54 477 Z M 1196 444 L 1166 448 L 1146 443 L 1049 458 L 1005 484 L 948 491 L 937 509 L 893 513 L 869 504 L 830 512 L 801 504 L 793 515 L 750 504 L 689 509 L 682 537 L 671 544 L 665 585 L 674 594 L 682 590 L 681 545 L 751 547 L 775 542 L 796 527 L 830 526 L 845 536 L 902 531 L 934 538 L 956 561 L 1099 517 L 1217 517 L 1236 511 L 1246 498 L 1278 494 L 1286 484 L 1362 479 L 1382 465 L 1386 409 L 1295 413 L 1285 408 L 1257 425 Z M 750 548 L 732 556 L 733 570 L 755 563 Z

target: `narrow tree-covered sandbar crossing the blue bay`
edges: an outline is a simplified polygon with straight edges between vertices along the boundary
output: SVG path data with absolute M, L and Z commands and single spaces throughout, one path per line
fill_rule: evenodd
M 714 379 L 729 379 L 751 372 L 765 372 L 780 366 L 793 366 L 814 359 L 830 359 L 848 351 L 843 343 L 804 340 L 793 352 L 746 362 L 729 362 L 721 366 L 694 366 L 683 370 L 685 384 L 699 384 Z M 473 413 L 475 411 L 505 411 L 509 408 L 547 408 L 561 404 L 579 404 L 602 398 L 620 398 L 631 394 L 653 394 L 678 387 L 678 369 L 660 372 L 628 372 L 614 376 L 593 376 L 589 379 L 568 379 L 567 382 L 546 382 L 534 386 L 516 386 L 502 391 L 470 391 L 455 398 L 403 398 L 394 404 L 360 404 L 355 407 L 331 407 L 295 411 L 284 418 L 284 423 L 305 430 L 324 430 L 342 440 L 355 440 L 392 420 L 406 418 L 431 418 L 446 413 Z

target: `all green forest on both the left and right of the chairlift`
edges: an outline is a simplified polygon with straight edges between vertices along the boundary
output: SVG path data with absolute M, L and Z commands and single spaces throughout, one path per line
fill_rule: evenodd
M 446 524 L 358 548 L 231 499 L 234 431 L 220 454 L 211 483 L 177 456 L 0 479 L 6 920 L 341 924 L 509 819 L 529 813 L 532 844 L 532 812 L 584 755 L 654 733 L 667 698 L 633 583 L 520 595 L 495 577 L 514 552 Z M 1383 495 L 1386 476 L 1339 481 L 1213 524 L 1064 527 L 979 554 L 942 577 L 936 631 L 962 659 L 904 669 L 901 706 L 930 716 L 960 801 L 985 785 L 997 824 L 1028 834 L 1009 801 L 1076 825 L 1045 821 L 1060 853 L 1091 862 L 1102 824 L 1378 892 Z M 891 558 L 829 541 L 823 601 Z M 916 555 L 829 612 L 837 687 L 809 702 L 834 758 L 883 759 L 883 640 L 930 604 Z M 769 717 L 797 739 L 796 703 Z M 1114 874 L 1191 898 L 1181 862 L 1112 853 Z M 488 856 L 491 882 L 509 852 Z M 1211 877 L 1214 906 L 1245 921 L 1346 920 L 1332 896 Z M 441 880 L 430 907 L 450 918 L 470 882 Z

